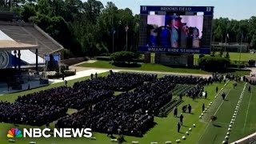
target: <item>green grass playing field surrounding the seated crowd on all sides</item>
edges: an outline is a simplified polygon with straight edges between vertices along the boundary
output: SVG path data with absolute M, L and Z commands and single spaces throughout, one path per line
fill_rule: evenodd
M 105 74 L 99 74 L 99 75 L 106 75 Z M 88 78 L 88 77 L 86 77 Z M 68 82 L 69 86 L 72 86 L 74 82 L 82 81 L 82 79 L 86 78 L 79 78 L 75 79 L 73 81 Z M 154 128 L 149 130 L 143 138 L 134 138 L 134 137 L 128 137 L 125 136 L 126 143 L 131 143 L 132 141 L 138 141 L 139 143 L 146 144 L 150 142 L 158 142 L 158 143 L 165 143 L 166 141 L 172 141 L 174 142 L 176 139 L 182 139 L 183 135 L 186 135 L 186 131 L 189 130 L 189 128 L 192 128 L 192 131 L 190 132 L 189 136 L 186 136 L 186 140 L 182 140 L 182 143 L 220 143 L 225 138 L 226 134 L 226 126 L 228 126 L 231 116 L 234 113 L 234 106 L 236 106 L 236 103 L 238 102 L 238 98 L 240 96 L 240 93 L 242 91 L 242 88 L 245 83 L 238 83 L 238 86 L 236 89 L 233 89 L 232 87 L 233 82 L 229 82 L 228 85 L 225 87 L 224 90 L 230 90 L 230 93 L 227 96 L 227 100 L 225 102 L 222 102 L 222 99 L 220 97 L 214 98 L 216 95 L 215 87 L 218 86 L 219 88 L 224 86 L 224 83 L 214 83 L 210 86 L 205 86 L 205 90 L 208 92 L 208 98 L 198 98 L 196 102 L 193 102 L 191 98 L 183 98 L 184 102 L 182 102 L 181 105 L 178 106 L 178 114 L 181 113 L 181 107 L 190 104 L 192 106 L 192 114 L 183 114 L 184 115 L 184 122 L 181 133 L 177 132 L 177 123 L 178 118 L 173 117 L 173 113 L 171 112 L 167 118 L 155 118 L 154 121 L 157 123 Z M 28 94 L 34 91 L 38 90 L 45 90 L 49 89 L 54 86 L 62 86 L 63 83 L 59 84 L 53 84 L 50 86 L 46 86 L 43 88 L 38 88 L 34 90 L 24 91 L 21 93 L 16 94 L 6 94 L 0 97 L 0 100 L 6 100 L 10 102 L 14 102 L 15 98 L 18 97 L 18 95 L 22 94 Z M 252 87 L 252 90 L 255 90 L 256 86 Z M 247 89 L 246 89 L 247 90 Z M 256 102 L 256 98 L 252 97 L 255 92 L 252 94 L 245 92 L 244 98 L 242 99 L 241 107 L 238 111 L 238 117 L 236 122 L 234 122 L 234 131 L 231 131 L 230 134 L 230 140 L 235 140 L 238 138 L 242 138 L 248 134 L 251 134 L 254 132 L 254 126 L 256 123 L 256 116 L 254 113 L 255 106 L 254 103 Z M 118 94 L 118 93 L 117 93 Z M 210 111 L 209 113 L 205 115 L 206 118 L 199 119 L 198 116 L 202 113 L 202 103 L 205 103 L 206 106 L 210 103 L 214 102 L 212 106 L 212 113 L 215 113 L 215 111 L 218 109 L 216 123 L 222 127 L 215 127 L 212 126 L 210 123 Z M 221 105 L 222 104 L 222 105 Z M 221 106 L 220 106 L 221 105 Z M 246 112 L 248 111 L 248 112 Z M 69 110 L 68 113 L 73 113 L 74 110 Z M 245 119 L 246 117 L 246 119 Z M 246 121 L 246 124 L 244 125 Z M 210 123 L 210 124 L 209 124 Z M 193 127 L 192 125 L 196 124 L 196 127 Z M 53 125 L 50 125 L 53 126 Z M 241 129 L 243 126 L 245 128 L 243 130 Z M 7 131 L 10 130 L 11 127 L 14 127 L 13 124 L 6 124 L 6 123 L 0 123 L 0 143 L 1 144 L 7 144 L 8 138 L 6 138 Z M 30 126 L 18 126 L 19 129 L 22 129 L 22 127 L 30 127 Z M 43 128 L 44 126 L 42 126 Z M 217 136 L 216 136 L 217 135 Z M 37 142 L 38 144 L 70 144 L 70 143 L 76 143 L 76 144 L 110 144 L 113 142 L 110 142 L 110 138 L 106 137 L 106 134 L 99 134 L 94 133 L 94 137 L 97 138 L 97 140 L 90 140 L 88 138 L 15 138 L 16 142 L 18 144 L 28 144 L 30 141 Z M 213 138 L 214 137 L 214 138 Z M 215 138 L 216 137 L 216 138 Z M 198 142 L 198 140 L 200 141 Z

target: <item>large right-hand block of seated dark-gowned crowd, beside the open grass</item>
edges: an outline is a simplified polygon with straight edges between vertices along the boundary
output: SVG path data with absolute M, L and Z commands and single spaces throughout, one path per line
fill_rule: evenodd
M 93 109 L 61 118 L 57 127 L 90 127 L 94 131 L 142 136 L 154 126 L 154 115 L 172 99 L 176 84 L 206 84 L 207 78 L 166 76 L 144 82 L 133 91 L 98 102 Z

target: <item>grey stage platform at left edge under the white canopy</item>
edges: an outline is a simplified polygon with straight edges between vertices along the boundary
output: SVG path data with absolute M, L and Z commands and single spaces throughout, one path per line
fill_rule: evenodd
M 50 84 L 50 82 L 49 82 L 49 84 Z M 0 82 L 0 96 L 2 94 L 11 94 L 11 93 L 17 93 L 20 91 L 27 90 L 29 85 L 30 85 L 30 89 L 34 89 L 34 88 L 38 88 L 38 87 L 42 87 L 42 86 L 48 86 L 46 84 L 40 84 L 39 79 L 38 79 L 38 80 L 33 80 L 33 81 L 26 82 L 25 84 L 22 84 L 22 90 L 11 90 L 11 87 L 10 87 L 10 90 L 8 90 L 7 84 Z

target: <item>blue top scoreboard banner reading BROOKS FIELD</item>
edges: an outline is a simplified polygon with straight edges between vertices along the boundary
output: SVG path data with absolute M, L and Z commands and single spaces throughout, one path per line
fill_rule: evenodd
M 181 12 L 205 12 L 214 13 L 214 6 L 141 6 L 141 14 L 149 11 L 181 11 Z

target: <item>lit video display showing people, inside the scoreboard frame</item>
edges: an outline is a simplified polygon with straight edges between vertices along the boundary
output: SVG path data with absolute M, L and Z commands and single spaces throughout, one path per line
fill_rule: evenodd
M 148 15 L 147 46 L 199 48 L 203 16 Z

